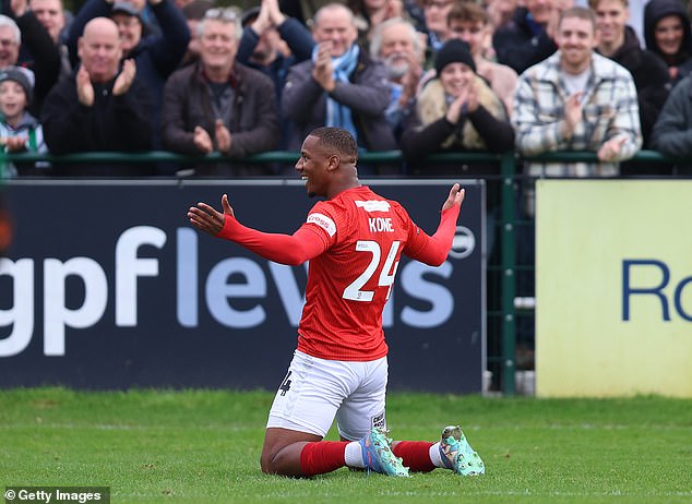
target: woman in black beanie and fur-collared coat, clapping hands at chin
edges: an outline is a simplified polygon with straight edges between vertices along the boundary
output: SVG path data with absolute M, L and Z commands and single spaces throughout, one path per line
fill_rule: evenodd
M 402 154 L 414 175 L 482 175 L 488 166 L 425 166 L 438 152 L 490 151 L 502 153 L 514 145 L 514 130 L 504 105 L 476 74 L 468 45 L 450 39 L 434 60 L 436 77 L 419 93 L 402 140 Z M 434 170 L 434 173 L 431 172 Z

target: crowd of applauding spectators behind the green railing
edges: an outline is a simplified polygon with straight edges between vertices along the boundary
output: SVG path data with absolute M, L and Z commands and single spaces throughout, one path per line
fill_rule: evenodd
M 402 152 L 366 175 L 497 173 L 426 161 L 445 152 L 596 153 L 526 166 L 576 177 L 629 175 L 641 148 L 692 156 L 681 0 L 637 1 L 642 26 L 628 0 L 220 1 L 85 0 L 72 13 L 62 0 L 3 2 L 4 152 L 222 155 L 174 168 L 4 164 L 4 176 L 271 176 L 282 169 L 243 158 L 297 152 L 321 125 L 365 152 Z M 690 173 L 655 173 L 673 169 Z

